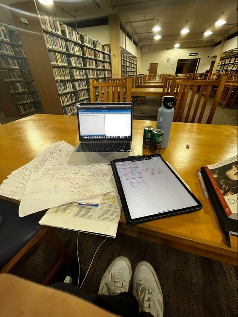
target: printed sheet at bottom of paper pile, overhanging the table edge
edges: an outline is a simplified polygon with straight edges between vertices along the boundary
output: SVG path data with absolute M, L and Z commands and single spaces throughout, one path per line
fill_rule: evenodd
M 81 205 L 75 202 L 50 208 L 39 221 L 41 225 L 115 237 L 121 214 L 121 201 L 114 177 L 113 192 L 103 194 L 100 204 Z

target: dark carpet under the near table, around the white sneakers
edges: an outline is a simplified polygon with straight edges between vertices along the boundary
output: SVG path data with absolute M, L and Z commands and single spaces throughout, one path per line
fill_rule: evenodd
M 74 257 L 71 270 L 63 270 L 56 281 L 63 281 L 63 276 L 69 274 L 76 285 L 77 233 L 63 229 L 55 231 Z M 79 234 L 82 277 L 103 240 L 104 237 L 101 236 Z M 115 239 L 107 239 L 101 246 L 82 288 L 90 293 L 97 293 L 104 271 L 117 256 L 126 256 L 131 262 L 132 270 L 140 261 L 148 261 L 153 265 L 163 291 L 164 317 L 237 316 L 237 280 L 231 265 L 123 234 L 117 234 Z M 44 245 L 19 275 L 40 282 L 53 260 L 51 248 Z

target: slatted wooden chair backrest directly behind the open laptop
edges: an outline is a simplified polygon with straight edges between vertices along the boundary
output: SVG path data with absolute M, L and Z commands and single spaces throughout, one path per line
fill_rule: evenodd
M 132 79 L 126 78 L 120 82 L 96 82 L 90 79 L 90 97 L 91 102 L 131 102 Z

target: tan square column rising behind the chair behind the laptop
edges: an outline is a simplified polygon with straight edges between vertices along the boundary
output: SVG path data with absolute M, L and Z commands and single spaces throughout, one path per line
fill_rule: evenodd
M 108 16 L 109 39 L 111 45 L 112 78 L 121 77 L 120 19 L 117 14 Z

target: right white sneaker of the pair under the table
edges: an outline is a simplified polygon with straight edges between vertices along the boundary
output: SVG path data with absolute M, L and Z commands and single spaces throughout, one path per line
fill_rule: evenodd
M 132 293 L 139 302 L 140 311 L 150 312 L 154 317 L 163 317 L 163 294 L 150 263 L 142 261 L 137 264 L 132 280 Z

